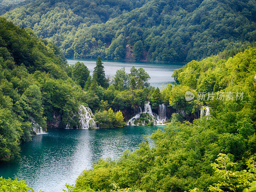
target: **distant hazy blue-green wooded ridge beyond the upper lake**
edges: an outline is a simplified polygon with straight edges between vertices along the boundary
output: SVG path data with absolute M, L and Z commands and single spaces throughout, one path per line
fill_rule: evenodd
M 66 58 L 190 61 L 256 40 L 256 1 L 45 1 L 6 12 Z

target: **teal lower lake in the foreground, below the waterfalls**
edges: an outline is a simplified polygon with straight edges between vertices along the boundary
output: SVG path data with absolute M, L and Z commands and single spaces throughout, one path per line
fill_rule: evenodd
M 61 192 L 65 183 L 75 184 L 94 161 L 118 159 L 124 150 L 133 151 L 150 135 L 165 126 L 125 126 L 116 129 L 58 129 L 33 136 L 21 144 L 20 157 L 0 164 L 4 178 L 26 180 L 35 191 Z M 152 144 L 152 141 L 150 141 Z

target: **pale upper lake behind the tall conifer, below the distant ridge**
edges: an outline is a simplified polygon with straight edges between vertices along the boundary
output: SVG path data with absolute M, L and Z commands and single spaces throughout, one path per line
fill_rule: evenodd
M 96 66 L 96 60 L 93 59 L 67 59 L 69 65 L 74 65 L 77 61 L 83 62 L 86 65 L 92 75 L 93 68 Z M 163 83 L 174 84 L 172 78 L 173 71 L 181 68 L 185 63 L 159 63 L 159 62 L 139 62 L 139 61 L 115 61 L 115 60 L 102 60 L 105 67 L 105 74 L 113 76 L 116 74 L 116 70 L 125 68 L 127 73 L 130 73 L 132 66 L 135 68 L 142 67 L 149 74 L 151 79 L 150 85 L 154 87 L 162 88 Z

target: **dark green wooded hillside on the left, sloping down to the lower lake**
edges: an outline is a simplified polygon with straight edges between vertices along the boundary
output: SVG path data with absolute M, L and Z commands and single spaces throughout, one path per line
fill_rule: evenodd
M 76 125 L 72 117 L 84 101 L 59 48 L 4 18 L 0 26 L 0 161 L 7 161 L 31 140 L 33 127 L 44 129 L 55 115 L 59 126 Z

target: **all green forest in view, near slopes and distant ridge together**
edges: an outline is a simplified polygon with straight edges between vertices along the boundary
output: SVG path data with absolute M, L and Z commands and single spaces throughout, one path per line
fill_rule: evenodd
M 166 128 L 116 160 L 94 161 L 64 192 L 256 191 L 254 0 L 0 3 L 1 165 L 20 156 L 34 127 L 81 128 L 81 106 L 107 132 L 150 102 L 172 109 Z M 93 58 L 92 75 L 66 58 Z M 109 78 L 102 59 L 188 63 L 174 85 L 155 88 L 142 67 Z M 0 173 L 0 192 L 20 191 L 34 190 Z

